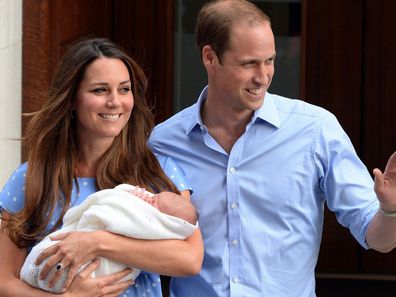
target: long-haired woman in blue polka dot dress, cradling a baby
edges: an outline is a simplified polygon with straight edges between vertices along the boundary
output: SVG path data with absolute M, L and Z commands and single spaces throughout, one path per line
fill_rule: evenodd
M 29 123 L 27 163 L 0 194 L 0 296 L 52 296 L 21 281 L 21 266 L 31 247 L 89 194 L 121 183 L 179 193 L 165 171 L 189 198 L 181 170 L 170 159 L 157 160 L 146 145 L 153 127 L 146 87 L 140 67 L 106 39 L 83 40 L 66 52 L 48 101 Z M 52 239 L 59 242 L 37 264 L 47 259 L 41 278 L 54 267 L 69 270 L 63 296 L 161 296 L 159 277 L 152 273 L 141 273 L 134 285 L 120 281 L 129 270 L 91 279 L 97 257 L 166 275 L 198 273 L 203 257 L 199 231 L 186 240 L 143 241 L 106 231 Z

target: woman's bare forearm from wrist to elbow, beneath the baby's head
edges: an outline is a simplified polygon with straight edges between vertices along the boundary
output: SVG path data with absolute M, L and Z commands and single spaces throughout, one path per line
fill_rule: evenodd
M 140 240 L 97 231 L 97 256 L 163 275 L 187 276 L 201 270 L 203 242 L 195 231 L 185 240 Z

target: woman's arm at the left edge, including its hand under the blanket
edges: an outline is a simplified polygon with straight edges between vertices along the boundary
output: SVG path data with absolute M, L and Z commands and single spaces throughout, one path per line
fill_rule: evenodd
M 8 236 L 7 225 L 9 215 L 2 213 L 0 230 L 0 296 L 2 297 L 87 297 L 87 296 L 114 296 L 121 294 L 131 282 L 116 283 L 130 271 L 123 271 L 103 278 L 91 279 L 90 274 L 98 267 L 94 261 L 88 265 L 72 283 L 70 289 L 61 295 L 51 294 L 31 287 L 19 278 L 19 273 L 25 261 L 26 249 L 18 248 Z

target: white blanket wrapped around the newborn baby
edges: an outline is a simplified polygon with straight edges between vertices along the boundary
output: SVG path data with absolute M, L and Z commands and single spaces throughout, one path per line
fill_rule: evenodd
M 184 239 L 197 228 L 180 218 L 160 212 L 147 202 L 125 191 L 133 188 L 132 185 L 122 184 L 114 189 L 89 195 L 80 205 L 66 212 L 63 227 L 50 235 L 68 231 L 107 230 L 139 239 Z M 47 280 L 52 278 L 55 268 L 50 271 L 45 280 L 40 280 L 39 274 L 46 261 L 39 266 L 34 264 L 40 253 L 55 243 L 57 241 L 52 241 L 49 236 L 39 242 L 27 256 L 20 277 L 31 286 L 61 293 L 68 269 L 63 271 L 62 277 L 53 288 L 48 288 Z M 101 258 L 100 262 L 100 267 L 93 277 L 108 275 L 126 268 L 124 264 L 105 258 Z M 133 268 L 132 273 L 123 280 L 135 279 L 139 273 L 139 269 Z

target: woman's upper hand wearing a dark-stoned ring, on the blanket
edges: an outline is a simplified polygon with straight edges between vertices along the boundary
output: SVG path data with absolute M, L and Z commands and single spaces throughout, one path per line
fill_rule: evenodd
M 58 266 L 58 271 L 54 273 L 48 285 L 53 287 L 64 273 L 63 270 L 67 269 L 64 287 L 68 288 L 79 269 L 96 258 L 97 242 L 95 242 L 94 234 L 95 232 L 67 232 L 51 237 L 51 240 L 59 242 L 45 249 L 37 257 L 36 265 L 48 258 L 41 270 L 40 279 L 45 279 L 47 274 Z

